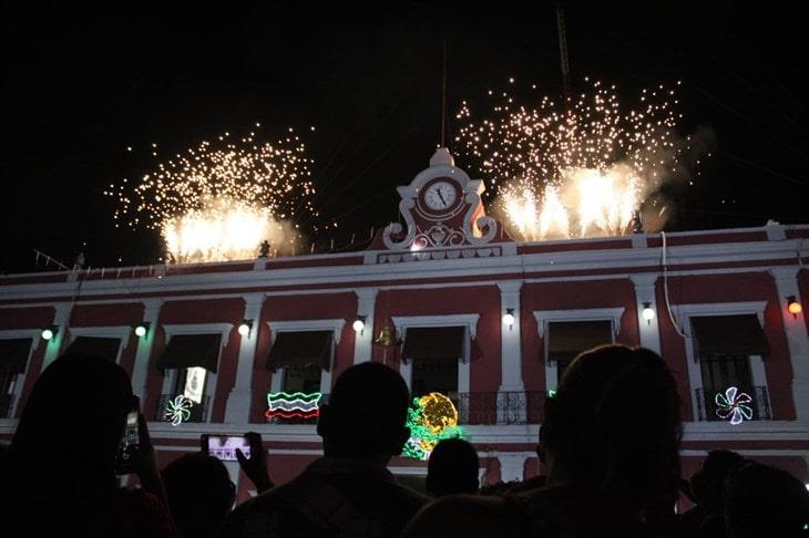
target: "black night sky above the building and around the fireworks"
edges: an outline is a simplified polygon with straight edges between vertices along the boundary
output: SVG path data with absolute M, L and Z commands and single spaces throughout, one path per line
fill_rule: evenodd
M 156 235 L 116 230 L 104 187 L 149 172 L 153 142 L 177 153 L 255 122 L 317 127 L 316 206 L 338 228 L 310 239 L 367 236 L 438 142 L 444 39 L 450 133 L 462 100 L 509 76 L 561 93 L 549 1 L 66 3 L 0 12 L 0 272 L 35 270 L 32 249 L 156 262 Z M 680 134 L 713 133 L 696 184 L 668 193 L 668 230 L 809 221 L 808 6 L 566 2 L 574 89 L 590 75 L 628 102 L 680 80 Z

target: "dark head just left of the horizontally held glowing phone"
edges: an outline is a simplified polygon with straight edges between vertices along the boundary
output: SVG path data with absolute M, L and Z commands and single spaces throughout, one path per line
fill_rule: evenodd
M 225 464 L 204 453 L 186 454 L 166 465 L 161 475 L 183 536 L 214 536 L 236 495 Z

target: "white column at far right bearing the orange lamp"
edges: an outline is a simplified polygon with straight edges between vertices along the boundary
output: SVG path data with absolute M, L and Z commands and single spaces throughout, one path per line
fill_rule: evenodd
M 809 335 L 806 330 L 807 304 L 800 297 L 798 288 L 798 267 L 774 267 L 770 273 L 776 281 L 778 289 L 778 308 L 784 319 L 784 332 L 787 335 L 789 345 L 789 358 L 792 361 L 792 399 L 795 400 L 795 412 L 798 420 L 809 421 Z M 798 315 L 787 310 L 787 297 L 795 296 L 795 299 L 803 306 L 803 312 Z

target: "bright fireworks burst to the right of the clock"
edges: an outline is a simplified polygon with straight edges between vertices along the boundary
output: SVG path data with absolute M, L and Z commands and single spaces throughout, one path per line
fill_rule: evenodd
M 489 177 L 522 239 L 624 234 L 645 197 L 677 172 L 686 145 L 676 134 L 674 91 L 644 90 L 625 112 L 615 86 L 590 84 L 566 110 L 547 96 L 526 107 L 490 91 L 490 118 L 472 121 L 465 102 L 457 115 L 467 124 L 455 141 Z

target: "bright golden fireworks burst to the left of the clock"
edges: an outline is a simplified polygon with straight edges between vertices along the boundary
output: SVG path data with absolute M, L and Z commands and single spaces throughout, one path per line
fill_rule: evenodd
M 309 165 L 291 128 L 275 143 L 225 133 L 104 194 L 119 200 L 116 221 L 158 230 L 177 262 L 248 259 L 265 239 L 277 254 L 291 251 L 300 238 L 297 211 L 317 216 Z

